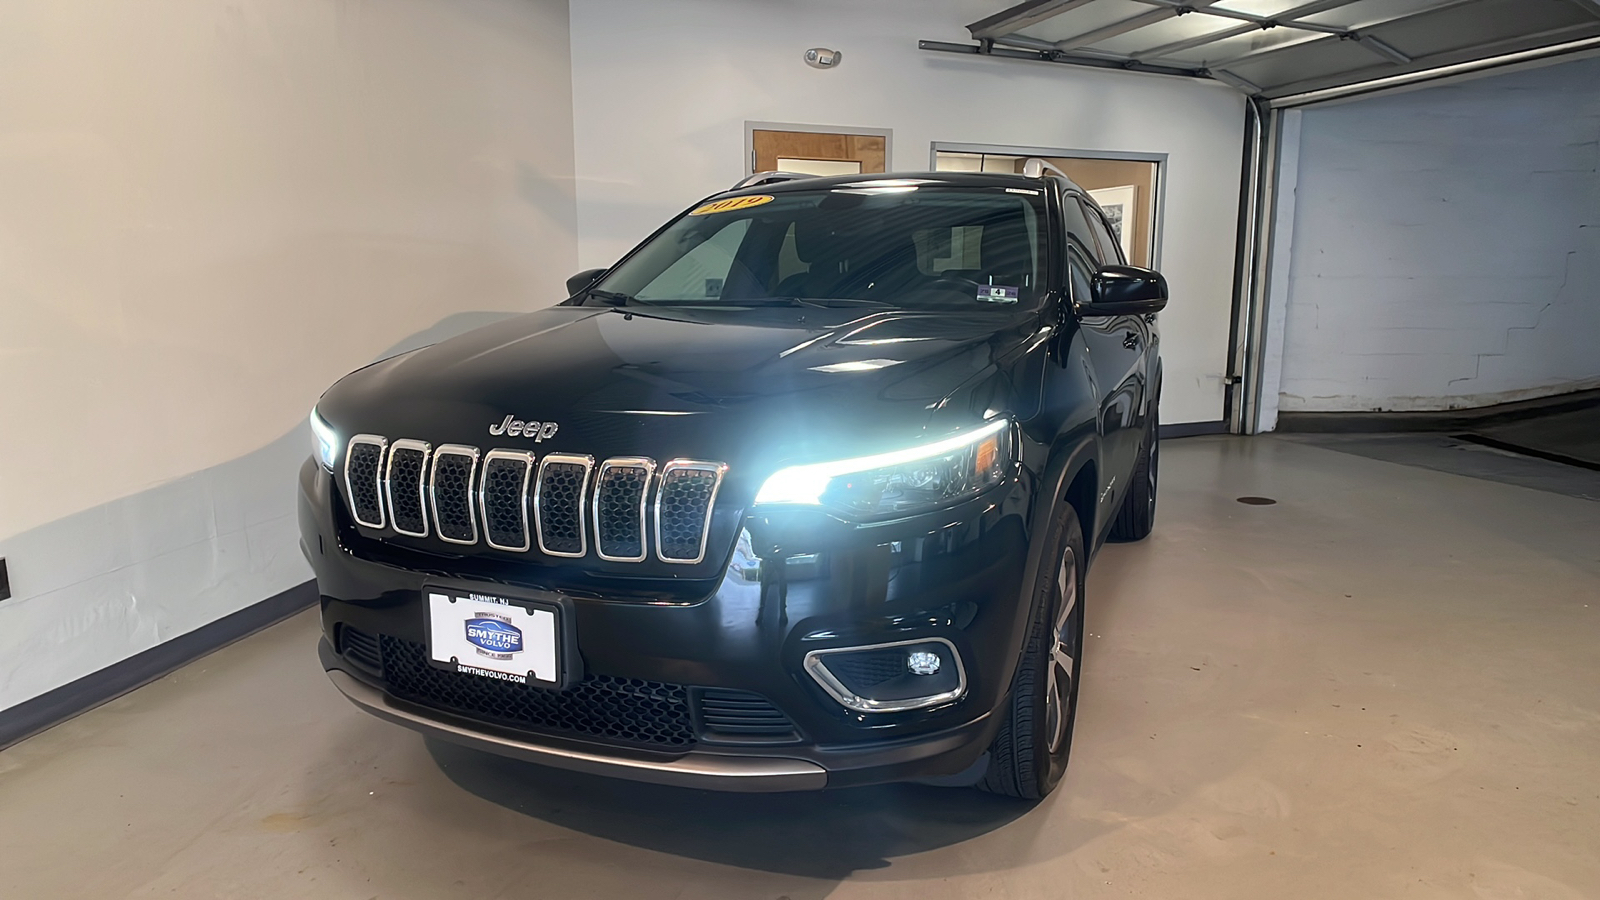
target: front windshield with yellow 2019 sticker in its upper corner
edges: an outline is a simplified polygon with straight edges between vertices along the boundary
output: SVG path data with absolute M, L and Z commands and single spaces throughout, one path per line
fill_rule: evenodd
M 1032 306 L 1043 191 L 861 183 L 706 203 L 590 293 L 675 306 Z

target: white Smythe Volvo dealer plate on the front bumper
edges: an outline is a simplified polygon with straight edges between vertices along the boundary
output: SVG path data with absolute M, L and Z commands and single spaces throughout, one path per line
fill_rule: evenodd
M 557 687 L 560 609 L 429 586 L 427 655 L 443 669 Z

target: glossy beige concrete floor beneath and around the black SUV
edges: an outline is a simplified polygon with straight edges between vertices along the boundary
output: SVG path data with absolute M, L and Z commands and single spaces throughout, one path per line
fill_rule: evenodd
M 429 746 L 307 613 L 0 753 L 0 897 L 1600 897 L 1600 503 L 1270 437 L 1163 464 L 1037 807 Z

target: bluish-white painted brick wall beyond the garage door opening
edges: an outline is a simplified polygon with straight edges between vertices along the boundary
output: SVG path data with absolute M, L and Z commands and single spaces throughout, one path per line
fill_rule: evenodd
M 1283 412 L 1600 386 L 1600 59 L 1304 110 Z

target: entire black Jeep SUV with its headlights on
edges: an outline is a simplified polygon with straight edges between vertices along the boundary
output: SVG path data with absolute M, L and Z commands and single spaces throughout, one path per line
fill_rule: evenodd
M 339 690 L 645 781 L 1046 794 L 1085 569 L 1155 516 L 1166 283 L 1085 192 L 768 173 L 568 288 L 312 412 Z

